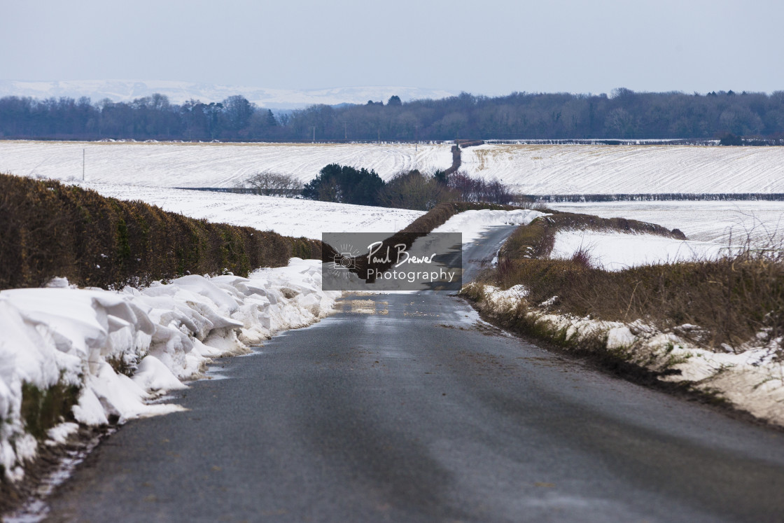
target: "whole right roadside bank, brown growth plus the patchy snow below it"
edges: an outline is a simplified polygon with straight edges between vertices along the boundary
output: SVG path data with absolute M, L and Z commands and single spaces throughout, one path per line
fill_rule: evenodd
M 747 246 L 714 260 L 624 271 L 593 267 L 584 252 L 550 259 L 557 231 L 577 227 L 682 237 L 632 220 L 554 213 L 519 227 L 497 266 L 463 296 L 524 336 L 784 426 L 781 249 Z

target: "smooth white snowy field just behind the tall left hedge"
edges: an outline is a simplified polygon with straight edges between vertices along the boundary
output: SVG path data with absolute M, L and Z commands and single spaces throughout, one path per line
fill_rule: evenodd
M 343 205 L 256 194 L 187 191 L 118 183 L 75 182 L 103 196 L 140 200 L 191 218 L 254 227 L 285 236 L 320 240 L 322 232 L 393 232 L 422 216 L 422 211 Z

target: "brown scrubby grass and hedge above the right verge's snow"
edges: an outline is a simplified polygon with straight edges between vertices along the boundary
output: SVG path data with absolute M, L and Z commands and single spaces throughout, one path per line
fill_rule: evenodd
M 604 271 L 590 253 L 550 260 L 555 231 L 575 223 L 605 227 L 595 216 L 535 220 L 520 227 L 503 249 L 498 267 L 484 278 L 502 289 L 522 284 L 532 306 L 551 300 L 555 311 L 609 321 L 641 319 L 673 329 L 702 347 L 735 350 L 784 335 L 784 255 L 781 250 L 744 249 L 718 260 L 666 263 Z M 632 220 L 616 222 L 639 231 Z M 645 224 L 646 232 L 670 234 Z M 677 234 L 674 234 L 677 237 Z M 684 326 L 694 325 L 694 327 Z M 724 347 L 722 345 L 724 344 Z M 732 347 L 729 349 L 728 347 Z

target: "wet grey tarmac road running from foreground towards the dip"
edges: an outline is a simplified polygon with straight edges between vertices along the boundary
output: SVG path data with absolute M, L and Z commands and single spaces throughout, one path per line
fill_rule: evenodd
M 497 249 L 496 231 L 466 252 Z M 441 293 L 347 296 L 127 423 L 49 521 L 781 521 L 784 435 Z

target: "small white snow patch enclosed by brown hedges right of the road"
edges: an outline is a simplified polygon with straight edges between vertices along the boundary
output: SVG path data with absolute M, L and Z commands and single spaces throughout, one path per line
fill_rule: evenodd
M 710 242 L 691 242 L 655 234 L 558 231 L 551 258 L 569 260 L 579 250 L 587 252 L 595 267 L 622 271 L 639 265 L 711 260 L 727 249 Z

